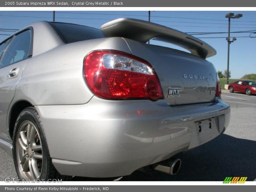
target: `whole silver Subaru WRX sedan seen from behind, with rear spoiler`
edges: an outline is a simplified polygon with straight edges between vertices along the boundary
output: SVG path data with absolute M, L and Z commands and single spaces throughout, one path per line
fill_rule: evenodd
M 20 179 L 175 174 L 180 159 L 172 156 L 228 126 L 230 108 L 206 60 L 215 54 L 193 36 L 142 20 L 100 30 L 33 23 L 0 44 L 0 147 Z

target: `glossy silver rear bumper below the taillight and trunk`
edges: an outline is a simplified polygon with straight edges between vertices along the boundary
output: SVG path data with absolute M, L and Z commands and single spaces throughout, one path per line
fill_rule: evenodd
M 93 97 L 84 105 L 35 107 L 56 169 L 87 177 L 129 175 L 212 140 L 230 119 L 229 105 L 218 98 L 170 107 L 164 100 Z M 212 117 L 212 132 L 200 135 L 195 122 Z

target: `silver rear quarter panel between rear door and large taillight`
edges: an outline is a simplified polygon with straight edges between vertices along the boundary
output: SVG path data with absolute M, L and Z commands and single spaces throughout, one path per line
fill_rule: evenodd
M 83 76 L 83 61 L 93 50 L 113 49 L 130 53 L 120 37 L 101 38 L 60 45 L 32 57 L 17 84 L 13 102 L 33 105 L 74 105 L 93 96 Z

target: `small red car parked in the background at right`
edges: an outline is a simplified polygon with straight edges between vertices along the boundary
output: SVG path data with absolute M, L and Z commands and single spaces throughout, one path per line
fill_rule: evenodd
M 256 94 L 256 83 L 254 81 L 236 81 L 228 85 L 229 92 L 242 92 L 246 95 Z

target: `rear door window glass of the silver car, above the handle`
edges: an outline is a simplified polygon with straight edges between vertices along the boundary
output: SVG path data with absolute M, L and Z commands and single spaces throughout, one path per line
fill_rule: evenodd
M 31 30 L 26 30 L 14 36 L 0 60 L 0 66 L 5 67 L 31 56 L 31 36 Z

